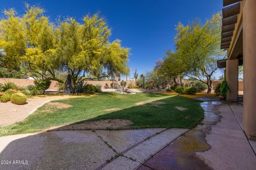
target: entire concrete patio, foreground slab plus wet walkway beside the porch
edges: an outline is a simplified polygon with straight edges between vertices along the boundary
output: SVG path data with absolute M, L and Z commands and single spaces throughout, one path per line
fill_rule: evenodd
M 191 130 L 51 131 L 0 137 L 0 160 L 11 162 L 0 169 L 255 169 L 256 143 L 243 132 L 242 105 L 205 101 L 201 106 L 204 120 Z

